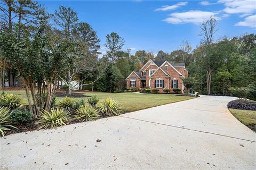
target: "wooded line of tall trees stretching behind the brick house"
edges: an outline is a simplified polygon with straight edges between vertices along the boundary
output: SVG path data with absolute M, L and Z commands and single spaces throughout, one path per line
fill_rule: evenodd
M 183 40 L 180 48 L 171 53 L 160 50 L 154 56 L 154 52 L 138 50 L 132 55 L 130 49 L 123 50 L 125 40 L 112 32 L 106 35 L 106 54 L 102 56 L 97 32 L 89 23 L 79 21 L 77 13 L 70 7 L 60 6 L 54 14 L 49 14 L 35 1 L 2 0 L 0 10 L 2 86 L 6 80 L 11 87 L 15 86 L 14 77 L 25 77 L 21 69 L 27 69 L 30 77 L 37 76 L 33 78 L 32 86 L 41 87 L 38 86 L 41 83 L 42 90 L 45 73 L 49 78 L 52 73 L 51 81 L 56 85 L 64 82 L 69 93 L 76 85 L 71 83 L 74 80 L 81 89 L 119 92 L 126 88 L 125 78 L 131 71 L 138 71 L 149 59 L 185 63 L 189 76 L 195 80 L 193 89 L 201 94 L 230 95 L 230 87 L 247 87 L 256 80 L 256 35 L 214 39 L 218 31 L 214 18 L 201 24 L 202 41 L 195 49 Z M 10 44 L 6 43 L 9 39 Z M 16 56 L 21 63 L 17 64 L 17 58 L 10 57 L 16 55 L 11 52 L 14 49 L 11 43 L 19 44 L 20 50 L 25 50 L 22 57 L 27 57 L 28 61 L 21 57 L 21 53 Z M 58 61 L 54 55 L 62 56 L 61 62 L 54 63 Z M 20 68 L 19 64 L 25 64 L 25 61 L 26 65 Z M 47 64 L 55 66 L 55 72 L 45 69 L 41 73 Z M 26 82 L 24 84 L 26 86 Z

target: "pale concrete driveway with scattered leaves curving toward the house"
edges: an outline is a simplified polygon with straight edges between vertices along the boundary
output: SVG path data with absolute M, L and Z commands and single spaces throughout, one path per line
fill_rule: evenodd
M 94 122 L 9 135 L 1 138 L 1 167 L 256 169 L 256 133 L 229 113 L 226 105 L 233 99 L 201 96 Z

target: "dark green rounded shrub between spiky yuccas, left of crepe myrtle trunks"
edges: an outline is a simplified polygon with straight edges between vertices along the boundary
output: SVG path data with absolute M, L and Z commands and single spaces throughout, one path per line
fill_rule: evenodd
M 14 124 L 23 124 L 32 120 L 32 114 L 29 111 L 20 111 L 18 109 L 13 110 L 10 113 L 10 120 Z

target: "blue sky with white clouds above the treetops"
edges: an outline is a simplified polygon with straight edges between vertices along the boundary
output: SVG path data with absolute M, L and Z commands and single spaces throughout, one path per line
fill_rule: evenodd
M 199 24 L 214 16 L 218 19 L 215 40 L 223 36 L 256 33 L 256 1 L 39 1 L 48 12 L 60 5 L 74 8 L 79 21 L 87 22 L 101 39 L 117 32 L 125 39 L 124 50 L 172 52 L 182 40 L 195 48 L 199 45 Z

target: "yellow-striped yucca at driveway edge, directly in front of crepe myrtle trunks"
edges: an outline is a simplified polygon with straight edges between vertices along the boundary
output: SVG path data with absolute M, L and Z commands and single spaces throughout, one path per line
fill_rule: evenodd
M 52 108 L 51 111 L 44 111 L 36 124 L 41 124 L 38 129 L 56 128 L 66 125 L 69 121 L 70 112 L 64 108 Z

